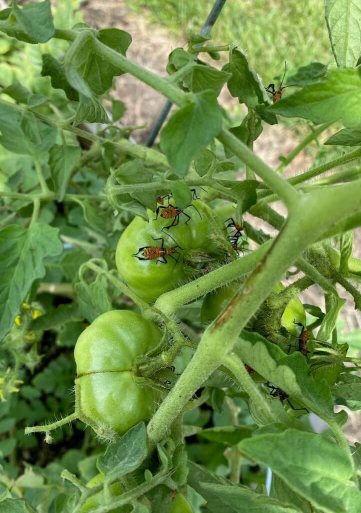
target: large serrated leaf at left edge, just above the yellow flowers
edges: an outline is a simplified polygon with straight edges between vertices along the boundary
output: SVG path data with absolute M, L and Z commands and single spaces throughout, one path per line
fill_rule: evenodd
M 28 229 L 10 225 L 0 231 L 0 340 L 14 322 L 32 283 L 45 275 L 44 259 L 61 253 L 58 231 L 44 223 Z

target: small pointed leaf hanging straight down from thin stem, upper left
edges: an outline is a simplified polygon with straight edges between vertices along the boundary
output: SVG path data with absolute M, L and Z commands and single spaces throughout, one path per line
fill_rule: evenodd
M 62 201 L 71 173 L 79 160 L 79 146 L 54 144 L 49 151 L 49 166 L 57 201 Z

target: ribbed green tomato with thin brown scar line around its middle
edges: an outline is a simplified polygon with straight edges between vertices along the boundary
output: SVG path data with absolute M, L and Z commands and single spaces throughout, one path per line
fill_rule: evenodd
M 152 322 L 130 310 L 100 315 L 78 338 L 74 358 L 81 417 L 125 433 L 155 411 L 157 394 L 134 380 L 134 359 L 162 338 Z

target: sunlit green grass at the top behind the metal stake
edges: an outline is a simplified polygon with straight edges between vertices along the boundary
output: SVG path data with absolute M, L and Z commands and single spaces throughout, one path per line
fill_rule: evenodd
M 129 0 L 178 37 L 198 33 L 214 0 Z M 228 0 L 212 31 L 216 44 L 236 43 L 264 83 L 289 69 L 332 57 L 321 0 Z

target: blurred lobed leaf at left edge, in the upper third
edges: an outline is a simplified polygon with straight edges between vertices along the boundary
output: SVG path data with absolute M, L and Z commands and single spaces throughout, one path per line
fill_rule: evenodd
M 38 156 L 55 143 L 56 133 L 55 127 L 40 122 L 33 113 L 0 105 L 0 144 L 7 150 Z

